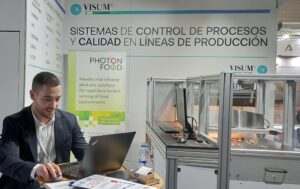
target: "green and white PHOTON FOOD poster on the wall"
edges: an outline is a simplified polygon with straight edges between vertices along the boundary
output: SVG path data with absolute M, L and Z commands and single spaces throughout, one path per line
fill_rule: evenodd
M 125 52 L 69 52 L 67 107 L 80 126 L 124 122 L 125 85 Z

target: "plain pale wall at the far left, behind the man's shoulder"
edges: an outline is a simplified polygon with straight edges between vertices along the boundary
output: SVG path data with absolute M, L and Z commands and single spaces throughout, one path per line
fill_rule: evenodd
M 0 1 L 0 133 L 5 116 L 24 102 L 25 1 Z

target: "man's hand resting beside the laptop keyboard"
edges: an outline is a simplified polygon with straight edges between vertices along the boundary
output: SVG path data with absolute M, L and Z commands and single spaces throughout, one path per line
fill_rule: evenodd
M 62 179 L 62 173 L 55 163 L 44 163 L 38 166 L 35 172 L 38 180 L 43 182 L 53 182 Z

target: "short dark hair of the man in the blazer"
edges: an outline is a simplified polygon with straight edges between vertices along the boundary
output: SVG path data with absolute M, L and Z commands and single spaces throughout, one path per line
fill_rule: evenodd
M 56 87 L 60 85 L 60 81 L 56 75 L 50 72 L 40 72 L 36 74 L 32 81 L 32 90 L 38 91 L 44 85 Z

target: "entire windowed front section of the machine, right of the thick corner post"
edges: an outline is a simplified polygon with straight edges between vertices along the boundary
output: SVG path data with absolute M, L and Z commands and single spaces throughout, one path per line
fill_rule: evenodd
M 298 150 L 297 83 L 284 76 L 235 78 L 232 148 Z

